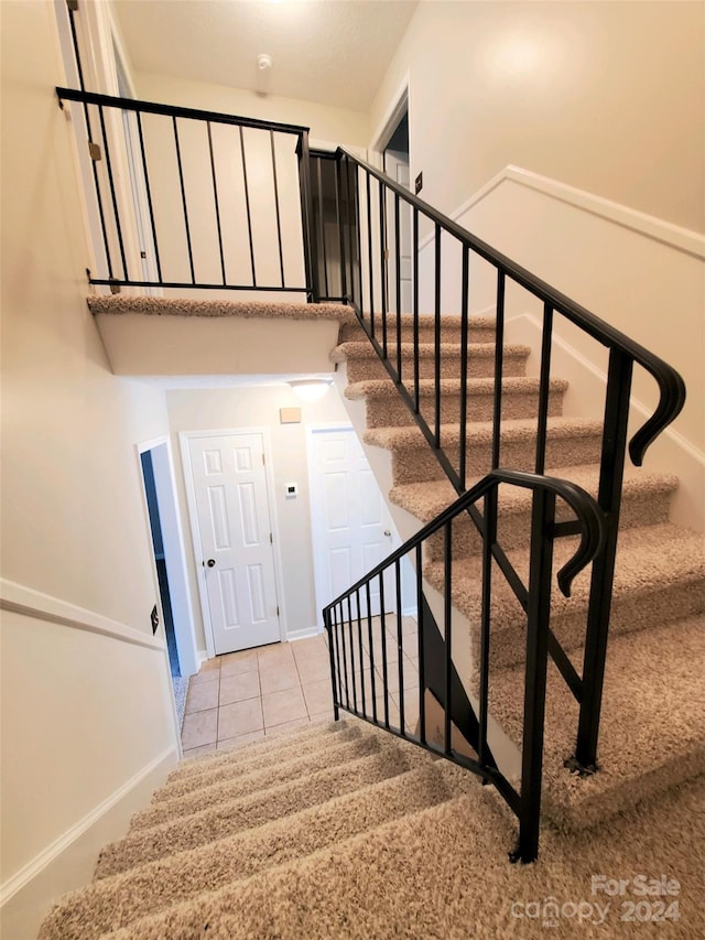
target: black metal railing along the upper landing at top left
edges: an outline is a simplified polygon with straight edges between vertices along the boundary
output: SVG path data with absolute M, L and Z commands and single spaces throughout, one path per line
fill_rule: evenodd
M 90 283 L 286 291 L 308 300 L 318 292 L 307 128 L 86 90 L 56 94 L 62 107 L 80 104 L 89 138 L 105 264 Z

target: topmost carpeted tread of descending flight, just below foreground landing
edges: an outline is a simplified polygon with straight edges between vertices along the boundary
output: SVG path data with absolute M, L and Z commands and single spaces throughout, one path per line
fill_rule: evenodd
M 94 882 L 62 898 L 40 940 L 89 940 L 457 795 L 436 761 L 256 829 Z

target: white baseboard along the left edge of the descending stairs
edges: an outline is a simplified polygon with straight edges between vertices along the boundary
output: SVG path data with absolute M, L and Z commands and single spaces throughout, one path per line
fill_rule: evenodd
M 0 886 L 6 940 L 36 937 L 54 900 L 90 882 L 100 849 L 124 835 L 130 818 L 147 806 L 177 761 L 175 747 L 163 750 Z

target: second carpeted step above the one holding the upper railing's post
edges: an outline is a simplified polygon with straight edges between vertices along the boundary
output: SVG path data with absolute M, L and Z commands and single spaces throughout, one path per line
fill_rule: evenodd
M 596 464 L 552 467 L 546 473 L 570 479 L 597 496 L 599 467 Z M 473 483 L 475 480 L 469 482 L 468 488 Z M 677 485 L 676 476 L 649 474 L 640 467 L 626 467 L 620 529 L 668 522 L 670 498 Z M 411 512 L 423 523 L 435 519 L 456 498 L 457 494 L 447 479 L 394 486 L 389 493 L 390 503 Z M 528 489 L 500 487 L 498 542 L 506 551 L 528 545 L 531 533 L 531 500 L 532 495 Z M 561 521 L 575 518 L 562 499 L 557 500 L 556 509 Z M 441 561 L 444 558 L 442 532 L 429 539 L 425 551 L 427 561 Z M 459 559 L 480 551 L 481 540 L 475 525 L 467 516 L 459 516 L 453 522 L 453 558 Z

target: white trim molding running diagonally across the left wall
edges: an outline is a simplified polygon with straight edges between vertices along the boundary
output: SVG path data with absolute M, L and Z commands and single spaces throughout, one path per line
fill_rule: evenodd
M 68 601 L 52 597 L 50 594 L 43 594 L 41 591 L 25 587 L 4 577 L 0 579 L 0 608 L 36 617 L 40 620 L 62 624 L 65 627 L 100 634 L 122 642 L 143 646 L 147 649 L 158 651 L 165 649 L 161 639 L 140 633 L 134 627 L 128 627 L 94 611 L 87 611 L 85 607 L 78 607 Z

